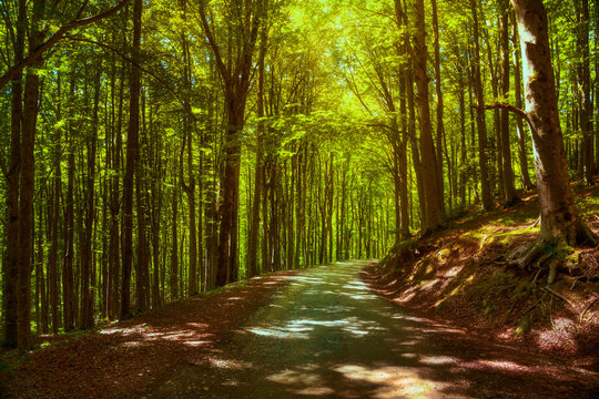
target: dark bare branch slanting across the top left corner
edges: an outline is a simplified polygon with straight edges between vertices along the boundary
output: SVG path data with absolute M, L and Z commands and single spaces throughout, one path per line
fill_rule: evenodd
M 58 43 L 67 33 L 69 33 L 71 30 L 75 28 L 81 28 L 89 25 L 91 23 L 98 22 L 104 18 L 111 17 L 114 13 L 116 13 L 119 10 L 121 10 L 123 7 L 126 6 L 126 3 L 130 0 L 121 0 L 116 6 L 113 8 L 100 12 L 99 14 L 91 16 L 88 18 L 82 19 L 75 19 L 71 22 L 68 22 L 65 25 L 60 28 L 54 34 L 50 37 L 45 42 L 43 42 L 40 47 L 38 47 L 33 52 L 29 53 L 19 64 L 10 68 L 2 76 L 0 76 L 0 90 L 4 88 L 11 80 L 17 78 L 19 73 L 21 73 L 27 66 L 34 63 L 37 60 L 39 60 L 42 54 L 51 49 L 55 43 Z

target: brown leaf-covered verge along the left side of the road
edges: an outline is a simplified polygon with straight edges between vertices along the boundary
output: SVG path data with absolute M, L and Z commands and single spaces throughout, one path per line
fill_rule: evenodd
M 93 331 L 38 336 L 0 354 L 0 398 L 139 398 L 159 376 L 217 351 L 296 272 L 242 282 Z

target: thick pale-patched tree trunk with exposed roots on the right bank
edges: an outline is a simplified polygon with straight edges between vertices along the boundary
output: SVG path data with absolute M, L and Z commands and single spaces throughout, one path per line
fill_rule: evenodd
M 557 93 L 549 50 L 547 13 L 541 0 L 511 0 L 520 32 L 526 112 L 537 150 L 536 172 L 541 208 L 540 237 L 520 258 L 528 264 L 552 246 L 558 253 L 561 245 L 595 241 L 578 217 L 566 164 L 564 137 L 559 123 Z M 549 263 L 548 282 L 555 280 L 559 258 Z

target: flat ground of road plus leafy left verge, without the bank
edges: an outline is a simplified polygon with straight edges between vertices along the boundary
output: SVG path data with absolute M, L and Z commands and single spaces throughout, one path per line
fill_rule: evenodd
M 264 276 L 62 337 L 8 362 L 6 395 L 598 397 L 599 375 L 568 359 L 490 342 L 382 298 L 367 285 L 367 264 Z

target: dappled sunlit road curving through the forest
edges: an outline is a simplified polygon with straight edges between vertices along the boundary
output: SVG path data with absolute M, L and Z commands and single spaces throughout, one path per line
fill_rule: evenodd
M 144 398 L 599 398 L 597 375 L 486 342 L 395 306 L 366 262 L 291 276 L 219 352 Z

